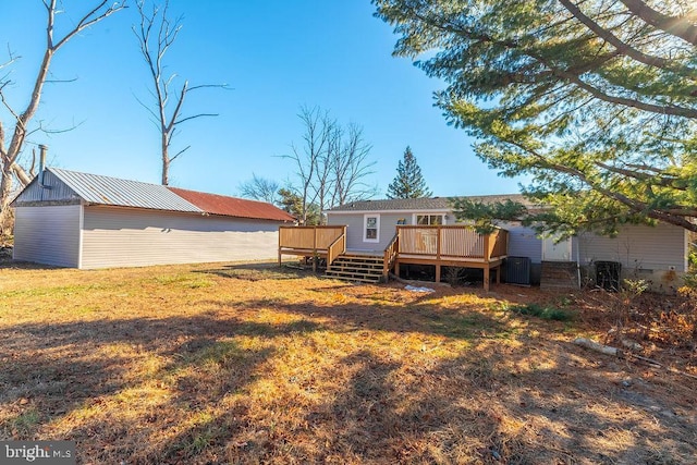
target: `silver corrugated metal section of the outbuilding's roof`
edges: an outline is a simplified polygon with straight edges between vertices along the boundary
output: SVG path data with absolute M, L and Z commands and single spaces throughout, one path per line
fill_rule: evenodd
M 122 180 L 98 174 L 47 168 L 72 188 L 85 201 L 119 207 L 148 208 L 154 210 L 204 211 L 159 184 Z

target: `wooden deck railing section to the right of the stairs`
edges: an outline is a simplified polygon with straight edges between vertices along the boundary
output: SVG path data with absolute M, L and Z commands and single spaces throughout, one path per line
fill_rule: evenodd
M 508 231 L 479 234 L 468 225 L 400 225 L 399 253 L 436 259 L 469 258 L 489 260 L 506 255 Z

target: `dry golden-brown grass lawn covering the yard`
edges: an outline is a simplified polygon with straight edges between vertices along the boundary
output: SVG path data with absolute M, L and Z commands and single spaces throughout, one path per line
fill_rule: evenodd
M 641 310 L 616 299 L 5 265 L 0 440 L 74 440 L 82 464 L 694 464 L 696 379 L 571 343 Z M 643 354 L 697 375 L 694 305 L 646 305 L 686 330 L 641 326 Z

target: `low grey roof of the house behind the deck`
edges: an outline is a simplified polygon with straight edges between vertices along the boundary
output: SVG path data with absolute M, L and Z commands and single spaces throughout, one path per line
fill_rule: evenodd
M 494 204 L 497 201 L 505 201 L 508 199 L 519 201 L 523 205 L 529 205 L 521 194 L 509 195 L 480 195 L 467 197 L 424 197 L 424 198 L 392 198 L 387 200 L 359 200 L 344 204 L 328 210 L 328 213 L 344 211 L 433 211 L 450 210 L 451 201 L 457 198 L 467 198 L 473 201 L 481 201 L 485 204 Z

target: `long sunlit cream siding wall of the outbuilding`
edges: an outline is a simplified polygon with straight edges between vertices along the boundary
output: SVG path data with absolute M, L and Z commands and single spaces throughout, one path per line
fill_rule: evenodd
M 84 215 L 82 268 L 276 258 L 279 224 L 89 206 Z

